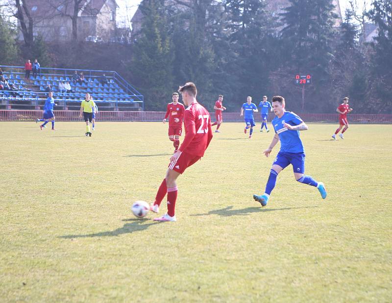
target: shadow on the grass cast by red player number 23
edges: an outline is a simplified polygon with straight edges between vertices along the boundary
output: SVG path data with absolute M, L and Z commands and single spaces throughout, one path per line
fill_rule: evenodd
M 60 236 L 59 238 L 74 239 L 74 238 L 90 238 L 90 237 L 114 237 L 123 234 L 130 234 L 135 231 L 145 230 L 149 226 L 158 223 L 158 222 L 145 223 L 146 221 L 150 221 L 149 219 L 124 219 L 123 221 L 129 221 L 130 223 L 125 223 L 123 227 L 111 231 L 102 231 L 95 234 L 87 234 L 87 235 L 67 235 L 67 236 Z

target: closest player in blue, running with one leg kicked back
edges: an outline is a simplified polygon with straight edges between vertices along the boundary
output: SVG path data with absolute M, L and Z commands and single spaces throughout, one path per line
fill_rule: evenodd
M 285 110 L 285 99 L 281 96 L 272 97 L 272 110 L 276 114 L 276 117 L 271 122 L 275 130 L 275 136 L 273 136 L 270 147 L 264 151 L 264 154 L 266 157 L 269 157 L 272 148 L 279 140 L 280 150 L 273 161 L 264 194 L 254 194 L 253 199 L 260 202 L 261 206 L 266 206 L 270 193 L 275 187 L 276 177 L 279 172 L 290 164 L 293 165 L 295 180 L 317 187 L 321 197 L 325 199 L 327 192 L 324 184 L 317 182 L 311 176 L 304 175 L 305 152 L 302 141 L 299 138 L 299 131 L 306 131 L 308 126 L 294 112 Z

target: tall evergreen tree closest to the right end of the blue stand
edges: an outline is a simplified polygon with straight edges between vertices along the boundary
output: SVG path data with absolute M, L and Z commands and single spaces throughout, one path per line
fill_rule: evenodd
M 164 110 L 172 95 L 172 37 L 164 0 L 144 0 L 142 35 L 133 50 L 130 69 L 146 110 Z

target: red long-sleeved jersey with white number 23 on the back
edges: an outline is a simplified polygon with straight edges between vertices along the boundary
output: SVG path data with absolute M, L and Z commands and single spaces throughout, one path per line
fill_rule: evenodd
M 180 151 L 202 157 L 212 139 L 209 112 L 193 102 L 184 112 L 185 138 Z

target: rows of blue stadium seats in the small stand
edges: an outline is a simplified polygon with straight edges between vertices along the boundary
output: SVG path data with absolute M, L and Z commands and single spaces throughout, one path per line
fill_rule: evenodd
M 20 96 L 13 97 L 12 91 L 0 91 L 0 109 L 18 110 L 42 110 L 47 93 L 47 85 L 51 86 L 53 98 L 58 104 L 56 110 L 79 110 L 80 102 L 84 100 L 85 94 L 90 93 L 98 105 L 99 110 L 142 110 L 143 96 L 126 83 L 117 73 L 110 71 L 78 70 L 90 76 L 85 78 L 83 83 L 73 83 L 72 74 L 75 69 L 41 69 L 36 78 L 31 77 L 30 81 L 25 81 L 23 67 L 1 66 L 4 78 L 9 84 L 13 83 L 18 87 Z M 77 70 L 77 69 L 76 69 Z M 63 75 L 60 75 L 62 73 Z M 64 73 L 66 73 L 64 75 Z M 105 73 L 108 83 L 100 83 L 99 79 Z M 67 74 L 69 76 L 67 76 Z M 113 76 L 108 76 L 108 75 Z M 117 76 L 117 77 L 116 77 Z M 72 93 L 63 93 L 58 89 L 61 81 L 69 81 Z

